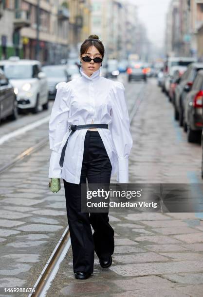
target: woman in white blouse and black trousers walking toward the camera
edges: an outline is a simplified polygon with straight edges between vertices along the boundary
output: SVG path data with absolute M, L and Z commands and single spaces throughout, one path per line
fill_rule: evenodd
M 104 46 L 90 35 L 80 48 L 81 77 L 60 82 L 50 125 L 49 178 L 63 179 L 76 279 L 93 273 L 94 251 L 111 266 L 114 231 L 108 213 L 81 213 L 81 183 L 129 182 L 132 137 L 123 83 L 100 75 Z M 92 228 L 94 233 L 92 234 Z

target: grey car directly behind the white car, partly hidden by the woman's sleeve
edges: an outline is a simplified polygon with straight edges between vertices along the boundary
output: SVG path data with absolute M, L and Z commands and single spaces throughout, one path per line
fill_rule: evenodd
M 58 82 L 68 82 L 70 77 L 67 72 L 66 65 L 49 65 L 43 66 L 42 71 L 46 74 L 48 88 L 49 88 L 49 99 L 55 99 L 56 95 L 56 84 Z

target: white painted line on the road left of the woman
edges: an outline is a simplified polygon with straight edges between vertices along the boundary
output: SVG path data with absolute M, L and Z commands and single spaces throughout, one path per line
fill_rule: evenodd
M 7 141 L 13 137 L 17 137 L 27 131 L 33 130 L 34 128 L 36 128 L 38 126 L 41 126 L 44 123 L 47 123 L 49 121 L 49 119 L 50 119 L 50 115 L 38 120 L 37 122 L 35 122 L 33 124 L 29 124 L 26 127 L 19 128 L 18 130 L 14 131 L 14 132 L 11 132 L 11 133 L 8 133 L 8 134 L 2 136 L 0 138 L 0 145 L 2 145 L 5 141 Z

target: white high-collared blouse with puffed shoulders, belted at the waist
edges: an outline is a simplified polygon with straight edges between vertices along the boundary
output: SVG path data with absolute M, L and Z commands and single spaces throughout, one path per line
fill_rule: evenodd
M 109 129 L 96 128 L 111 161 L 111 176 L 129 182 L 129 153 L 132 136 L 122 82 L 100 75 L 100 69 L 89 77 L 80 67 L 81 77 L 56 85 L 57 93 L 49 121 L 52 150 L 49 178 L 65 179 L 79 184 L 84 141 L 88 129 L 76 130 L 69 138 L 63 168 L 59 165 L 61 150 L 71 133 L 70 125 L 109 124 Z

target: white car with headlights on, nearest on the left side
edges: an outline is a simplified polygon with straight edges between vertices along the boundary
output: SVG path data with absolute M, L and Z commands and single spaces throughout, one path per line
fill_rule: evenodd
M 14 86 L 18 108 L 31 110 L 34 114 L 39 105 L 43 110 L 48 109 L 48 83 L 39 61 L 10 57 L 0 61 L 0 68 Z

